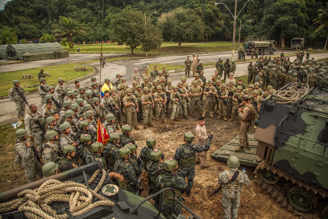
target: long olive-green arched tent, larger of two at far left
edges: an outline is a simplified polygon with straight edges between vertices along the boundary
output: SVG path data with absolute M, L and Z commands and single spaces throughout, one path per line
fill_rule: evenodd
M 28 51 L 33 53 L 47 53 L 54 52 L 56 50 L 63 51 L 63 47 L 57 42 L 55 43 L 30 43 L 30 44 L 11 44 L 6 48 L 7 59 L 18 58 L 23 60 L 23 53 L 26 54 Z

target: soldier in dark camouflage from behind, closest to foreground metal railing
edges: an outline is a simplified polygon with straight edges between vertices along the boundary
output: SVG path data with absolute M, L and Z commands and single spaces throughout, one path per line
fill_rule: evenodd
M 186 190 L 188 186 L 182 177 L 175 175 L 177 168 L 177 162 L 174 159 L 169 158 L 165 160 L 163 162 L 163 169 L 165 172 L 157 177 L 156 185 L 160 190 L 165 188 L 173 188 L 175 190 L 175 197 L 182 202 L 181 190 Z M 173 192 L 170 190 L 163 192 L 162 199 L 163 202 L 161 213 L 165 218 L 170 218 L 172 213 Z M 181 205 L 175 204 L 173 213 L 174 215 L 182 214 Z

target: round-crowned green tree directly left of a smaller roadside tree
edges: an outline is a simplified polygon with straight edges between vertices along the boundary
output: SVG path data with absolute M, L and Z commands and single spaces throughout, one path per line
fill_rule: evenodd
M 131 56 L 133 56 L 133 50 L 144 42 L 145 23 L 141 12 L 123 9 L 113 17 L 110 27 L 110 38 L 124 42 L 127 49 L 130 49 Z

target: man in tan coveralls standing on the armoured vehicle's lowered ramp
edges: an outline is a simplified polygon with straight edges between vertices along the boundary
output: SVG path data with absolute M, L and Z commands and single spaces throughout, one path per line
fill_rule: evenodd
M 239 117 L 241 119 L 240 131 L 239 131 L 239 142 L 240 146 L 235 149 L 237 152 L 243 152 L 244 147 L 247 150 L 251 150 L 248 143 L 248 130 L 251 126 L 252 121 L 255 118 L 255 109 L 249 102 L 250 96 L 245 94 L 243 96 L 244 107 L 238 109 Z M 246 145 L 245 145 L 246 144 Z

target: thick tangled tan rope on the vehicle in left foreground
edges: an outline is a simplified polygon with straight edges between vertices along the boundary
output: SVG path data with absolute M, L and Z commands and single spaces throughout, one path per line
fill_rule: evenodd
M 89 184 L 94 181 L 99 174 L 95 171 Z M 87 188 L 85 185 L 73 181 L 60 182 L 58 180 L 48 180 L 39 188 L 25 189 L 17 194 L 18 199 L 7 203 L 0 204 L 0 213 L 5 213 L 18 208 L 24 212 L 29 219 L 66 219 L 81 215 L 94 207 L 113 206 L 114 203 L 105 197 L 97 194 L 103 182 L 106 179 L 106 171 L 103 170 L 101 180 L 94 190 Z M 92 203 L 93 198 L 99 201 Z M 52 202 L 67 202 L 70 205 L 70 214 L 57 214 L 49 204 Z

